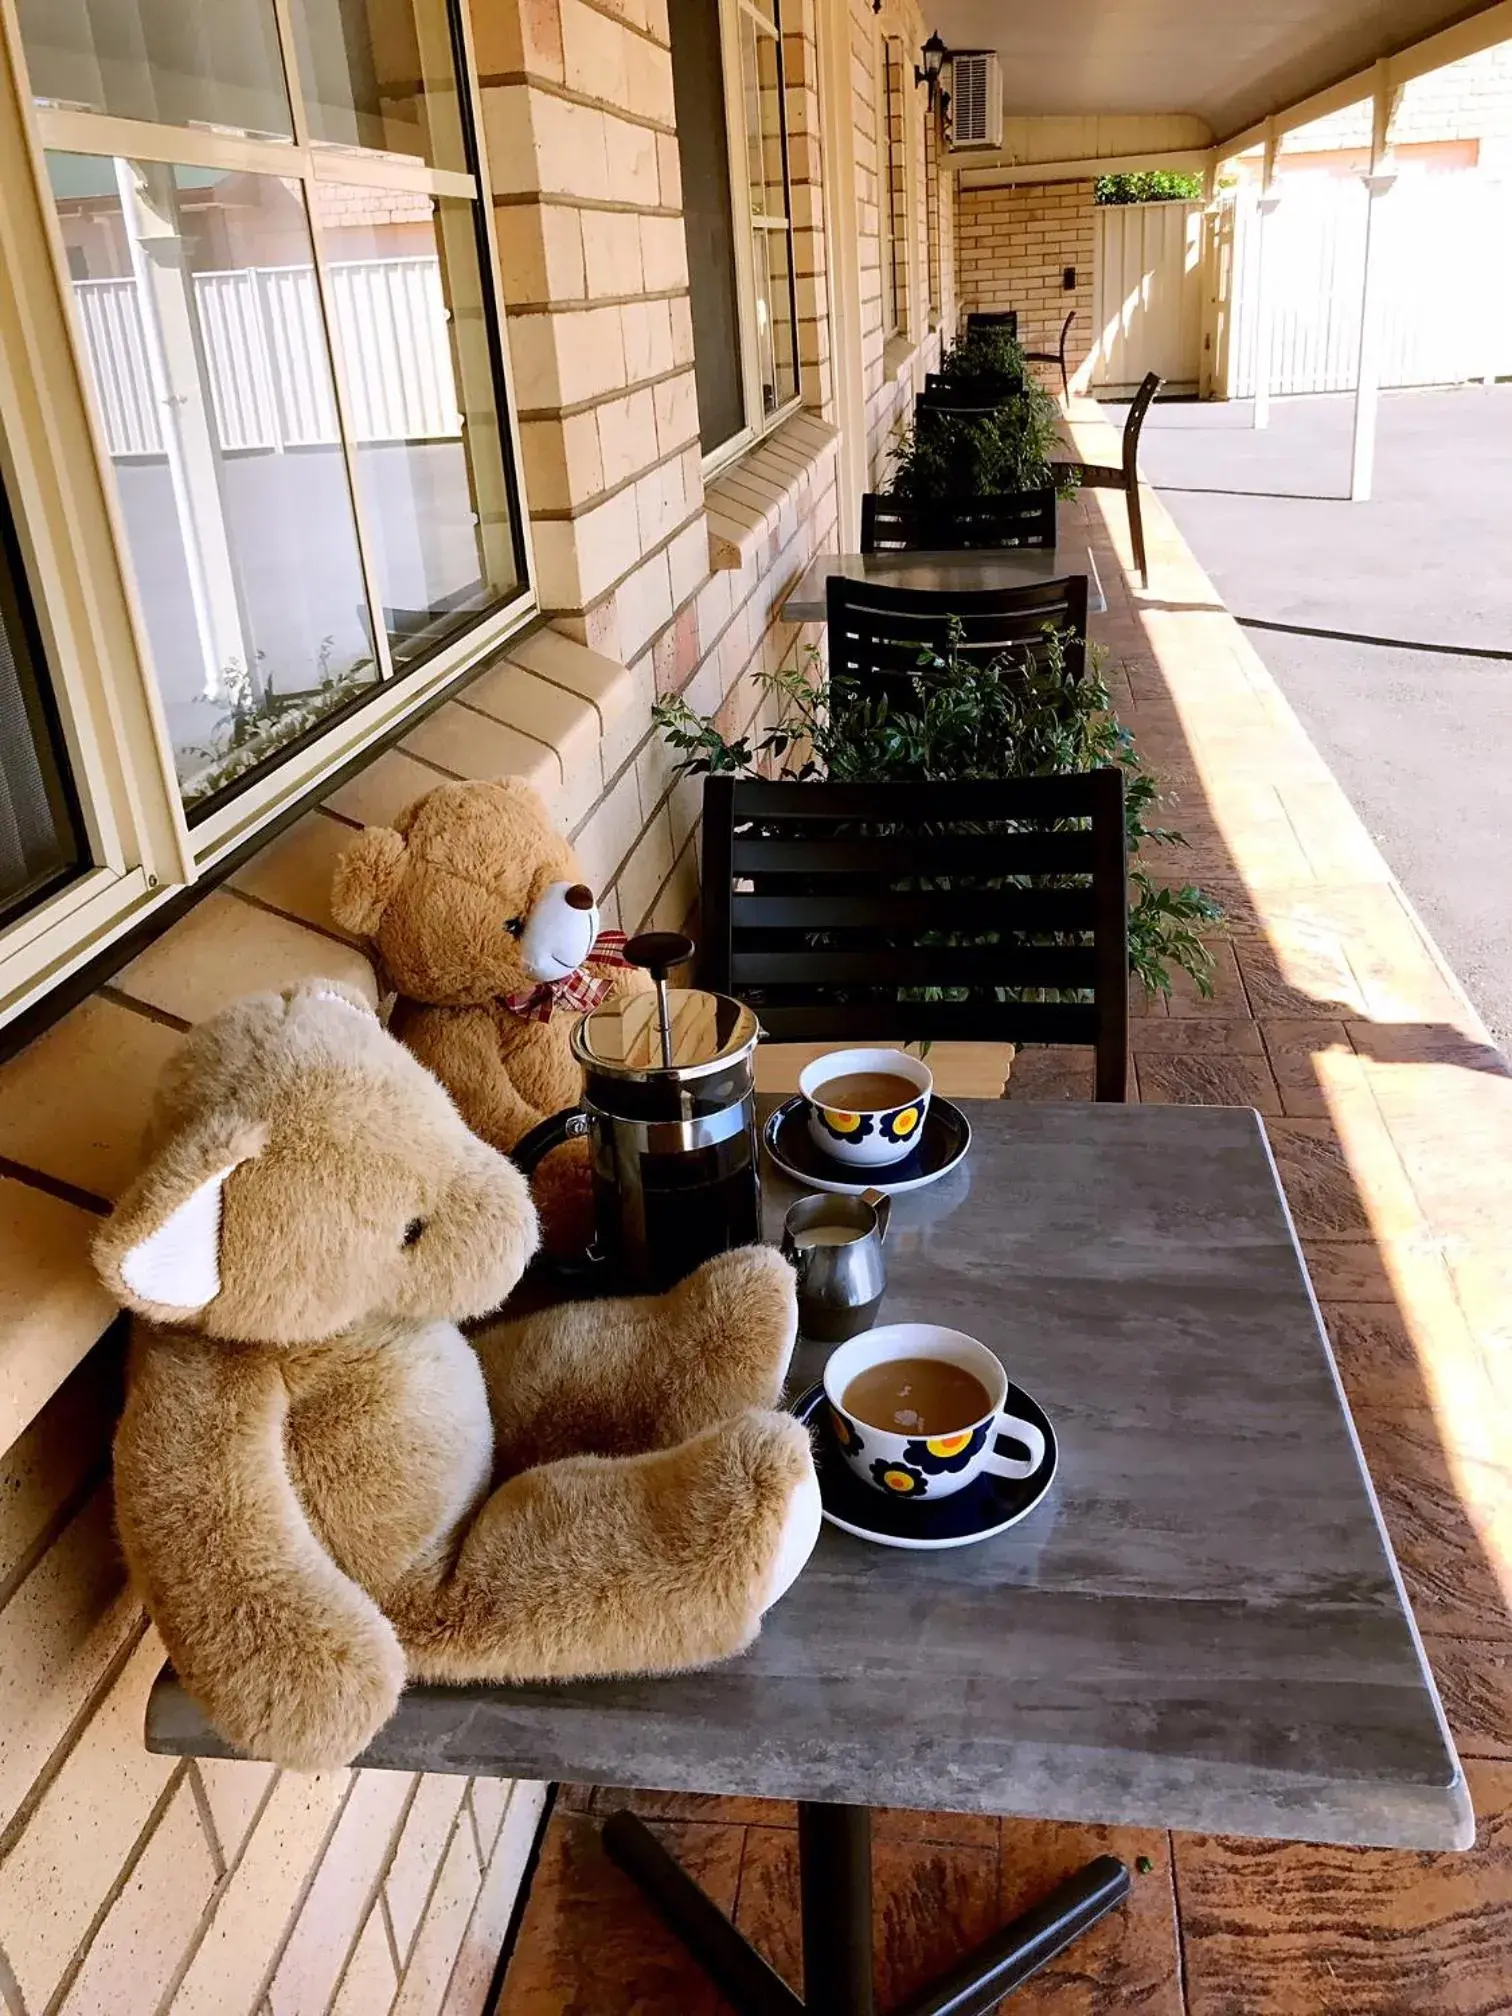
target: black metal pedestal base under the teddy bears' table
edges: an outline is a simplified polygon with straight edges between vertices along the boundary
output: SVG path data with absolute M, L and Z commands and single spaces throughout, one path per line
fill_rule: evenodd
M 740 2016 L 877 2016 L 871 1992 L 871 1810 L 798 1806 L 804 2000 L 677 1867 L 633 1812 L 605 1820 L 609 1857 L 641 1889 Z M 1129 1895 L 1129 1871 L 1099 1855 L 1002 1931 L 966 1954 L 895 2016 L 988 2016 L 1030 1974 Z

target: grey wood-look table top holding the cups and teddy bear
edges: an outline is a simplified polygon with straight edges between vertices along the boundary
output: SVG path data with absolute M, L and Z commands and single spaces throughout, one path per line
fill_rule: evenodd
M 972 1103 L 893 1204 L 883 1318 L 980 1337 L 1050 1413 L 980 1546 L 825 1528 L 738 1661 L 417 1687 L 363 1762 L 1445 1849 L 1472 1839 L 1264 1131 Z M 792 1198 L 768 1179 L 768 1232 Z M 796 1381 L 823 1365 L 800 1347 Z M 167 1679 L 149 1742 L 230 1754 Z

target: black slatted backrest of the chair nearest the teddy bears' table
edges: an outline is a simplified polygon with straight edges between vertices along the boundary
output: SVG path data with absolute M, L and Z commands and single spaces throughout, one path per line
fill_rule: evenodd
M 1127 1097 L 1123 772 L 706 778 L 700 986 L 780 1042 L 1091 1044 Z

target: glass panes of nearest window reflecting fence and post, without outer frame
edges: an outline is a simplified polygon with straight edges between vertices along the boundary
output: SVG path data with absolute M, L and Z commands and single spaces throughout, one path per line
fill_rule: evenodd
M 22 0 L 192 823 L 522 581 L 439 0 L 206 14 Z

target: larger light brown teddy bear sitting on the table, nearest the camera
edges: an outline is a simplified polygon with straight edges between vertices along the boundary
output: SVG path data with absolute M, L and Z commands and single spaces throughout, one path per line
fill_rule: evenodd
M 141 1318 L 117 1516 L 240 1750 L 343 1764 L 407 1677 L 724 1659 L 802 1566 L 782 1258 L 464 1339 L 534 1242 L 518 1169 L 339 984 L 238 1002 L 171 1058 L 95 1244 Z

